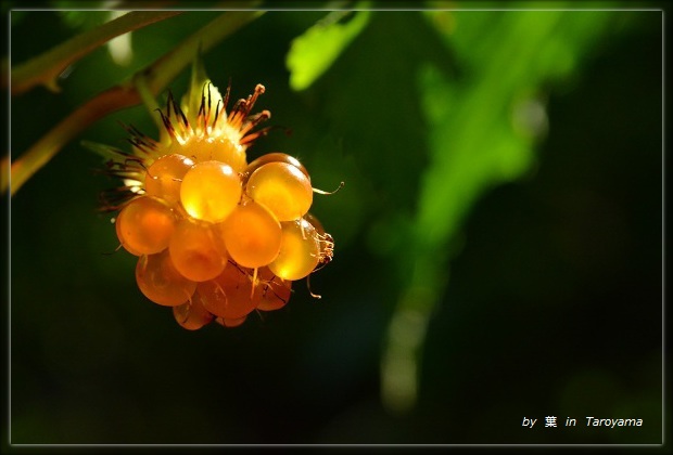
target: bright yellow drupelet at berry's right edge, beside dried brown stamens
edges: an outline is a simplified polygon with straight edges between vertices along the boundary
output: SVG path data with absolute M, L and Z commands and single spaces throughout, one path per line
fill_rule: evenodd
M 306 220 L 281 223 L 280 252 L 268 268 L 283 280 L 301 280 L 308 275 L 320 259 L 320 245 L 316 229 Z

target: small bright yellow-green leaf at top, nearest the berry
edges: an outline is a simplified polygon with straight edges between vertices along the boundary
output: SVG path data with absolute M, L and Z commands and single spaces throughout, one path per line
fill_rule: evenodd
M 339 55 L 369 22 L 370 12 L 359 11 L 345 24 L 339 23 L 351 12 L 335 11 L 295 38 L 285 64 L 290 69 L 290 87 L 304 90 L 327 72 Z

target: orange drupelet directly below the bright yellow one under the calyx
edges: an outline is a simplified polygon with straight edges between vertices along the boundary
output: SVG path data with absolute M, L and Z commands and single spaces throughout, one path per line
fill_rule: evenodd
M 227 264 L 225 243 L 205 221 L 182 219 L 170 236 L 168 251 L 176 270 L 193 282 L 213 280 Z

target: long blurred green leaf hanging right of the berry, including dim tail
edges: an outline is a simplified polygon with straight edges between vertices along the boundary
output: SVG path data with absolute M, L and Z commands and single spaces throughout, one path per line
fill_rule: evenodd
M 435 24 L 445 24 L 445 14 L 428 13 Z M 449 242 L 479 196 L 530 169 L 546 125 L 541 95 L 570 75 L 611 18 L 566 11 L 450 15 L 453 27 L 437 28 L 464 77 L 449 79 L 432 65 L 418 73 L 430 165 L 406 242 L 412 247 L 398 256 L 401 270 L 411 273 L 404 275 L 382 363 L 383 400 L 401 412 L 415 405 L 427 324 L 447 283 Z

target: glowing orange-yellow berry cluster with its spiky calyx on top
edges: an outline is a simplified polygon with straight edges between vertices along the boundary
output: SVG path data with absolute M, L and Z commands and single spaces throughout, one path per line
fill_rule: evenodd
M 266 132 L 251 131 L 270 116 L 251 115 L 264 87 L 228 115 L 229 91 L 223 100 L 203 87 L 199 103 L 193 93 L 180 106 L 169 96 L 163 141 L 127 128 L 134 154 L 115 151 L 124 159 L 109 164 L 130 195 L 109 207 L 119 210 L 120 245 L 138 257 L 138 287 L 192 330 L 284 307 L 292 282 L 329 262 L 334 246 L 308 211 L 317 190 L 297 159 L 270 153 L 247 162 L 247 146 Z

